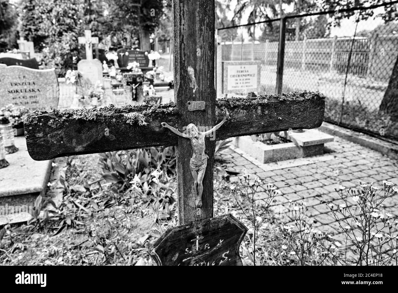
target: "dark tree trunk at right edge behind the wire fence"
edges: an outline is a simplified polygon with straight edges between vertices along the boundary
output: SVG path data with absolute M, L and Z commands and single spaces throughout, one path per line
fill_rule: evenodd
M 390 114 L 391 120 L 398 122 L 398 57 L 392 69 L 390 81 L 379 109 Z

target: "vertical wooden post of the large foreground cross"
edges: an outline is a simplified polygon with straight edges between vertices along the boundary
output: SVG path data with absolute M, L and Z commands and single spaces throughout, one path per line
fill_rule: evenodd
M 214 9 L 214 0 L 173 0 L 174 95 L 181 114 L 179 130 L 189 123 L 199 128 L 215 125 Z M 205 101 L 205 110 L 188 111 L 189 100 Z M 213 217 L 215 140 L 205 138 L 205 141 L 209 159 L 203 179 L 203 206 L 197 209 L 189 167 L 191 143 L 186 138 L 178 137 L 176 157 L 180 224 Z

